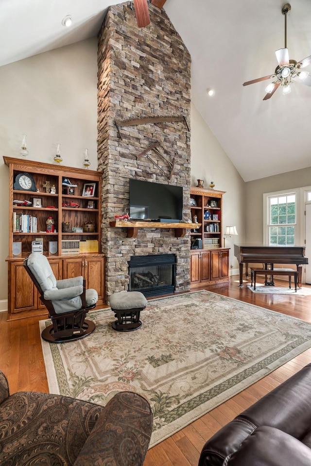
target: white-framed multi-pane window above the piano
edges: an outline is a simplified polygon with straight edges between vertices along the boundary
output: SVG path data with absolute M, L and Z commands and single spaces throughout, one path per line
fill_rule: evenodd
M 269 245 L 295 244 L 296 195 L 295 193 L 268 197 Z

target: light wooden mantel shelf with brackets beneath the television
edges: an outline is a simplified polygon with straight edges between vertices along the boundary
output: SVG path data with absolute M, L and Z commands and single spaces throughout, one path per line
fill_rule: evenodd
M 132 222 L 124 220 L 113 220 L 109 222 L 112 228 L 127 228 L 127 237 L 136 238 L 138 228 L 173 228 L 176 238 L 183 238 L 187 228 L 200 228 L 201 223 L 166 223 L 166 222 Z

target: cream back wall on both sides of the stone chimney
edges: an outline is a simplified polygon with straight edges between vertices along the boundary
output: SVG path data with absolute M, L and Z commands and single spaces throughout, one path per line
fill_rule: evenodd
M 41 53 L 0 67 L 0 155 L 19 157 L 22 134 L 27 134 L 30 160 L 53 163 L 61 144 L 64 166 L 82 167 L 89 150 L 91 169 L 97 168 L 97 38 Z M 224 195 L 224 225 L 236 225 L 244 240 L 244 182 L 204 120 L 191 106 L 191 185 L 205 186 L 214 175 L 215 189 Z M 0 159 L 0 310 L 6 309 L 8 252 L 8 167 Z M 230 263 L 237 268 L 230 251 Z

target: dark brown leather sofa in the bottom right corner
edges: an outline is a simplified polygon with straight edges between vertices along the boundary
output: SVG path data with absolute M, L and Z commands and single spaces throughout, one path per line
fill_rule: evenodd
M 311 364 L 213 435 L 199 466 L 311 466 Z

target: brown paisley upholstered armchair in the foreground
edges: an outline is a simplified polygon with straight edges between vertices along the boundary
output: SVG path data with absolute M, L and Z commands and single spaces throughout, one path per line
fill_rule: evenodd
M 9 395 L 0 371 L 0 465 L 140 466 L 152 431 L 148 401 L 120 392 L 105 407 L 61 395 Z

